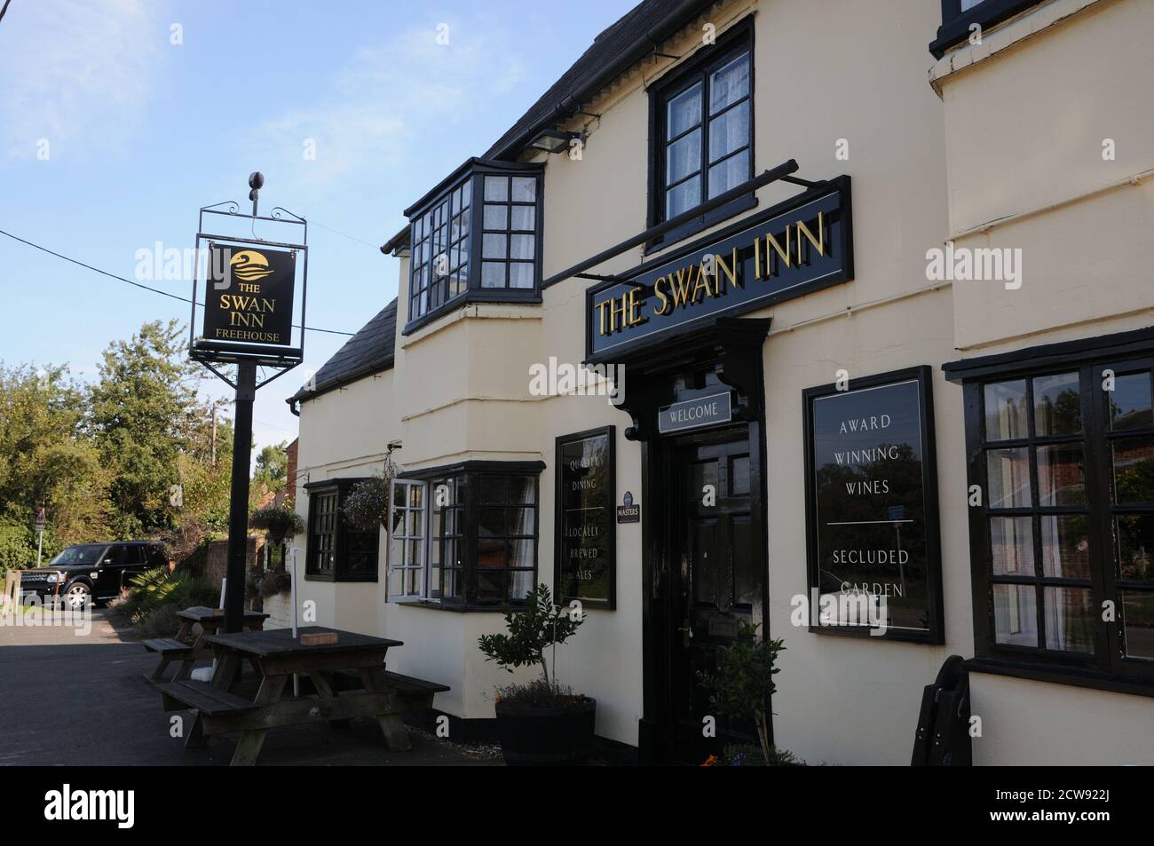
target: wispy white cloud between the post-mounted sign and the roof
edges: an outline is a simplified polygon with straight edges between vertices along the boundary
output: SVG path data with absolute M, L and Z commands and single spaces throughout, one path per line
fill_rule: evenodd
M 302 185 L 330 187 L 403 166 L 412 145 L 454 127 L 524 80 L 511 36 L 490 24 L 414 25 L 355 48 L 321 102 L 264 121 L 243 145 Z M 308 158 L 307 152 L 315 152 Z

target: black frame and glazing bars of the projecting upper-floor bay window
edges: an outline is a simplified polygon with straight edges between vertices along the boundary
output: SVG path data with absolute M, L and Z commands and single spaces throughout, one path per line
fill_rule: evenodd
M 503 230 L 489 230 L 490 234 L 501 233 L 505 238 L 507 253 L 504 259 L 484 259 L 482 247 L 485 241 L 485 179 L 505 178 L 507 200 L 489 201 L 490 205 L 504 204 L 507 208 L 505 227 Z M 531 178 L 535 180 L 535 197 L 532 201 L 512 200 L 512 179 Z M 460 238 L 452 238 L 452 220 L 457 214 L 454 211 L 454 196 L 464 186 L 469 186 L 469 223 L 467 231 L 460 233 Z M 448 203 L 448 205 L 445 205 Z M 532 230 L 511 230 L 512 207 L 533 207 L 534 227 Z M 444 222 L 437 219 L 441 209 L 448 208 L 444 212 Z M 462 208 L 464 203 L 462 202 Z M 415 204 L 405 209 L 405 217 L 409 218 L 410 238 L 410 264 L 409 278 L 405 283 L 405 295 L 407 307 L 407 320 L 402 335 L 410 335 L 421 327 L 425 327 L 443 314 L 447 314 L 460 306 L 470 302 L 525 302 L 538 304 L 541 301 L 541 253 L 544 248 L 544 211 L 545 211 L 545 165 L 539 163 L 523 162 L 494 162 L 488 159 L 471 158 L 449 177 L 447 177 L 433 190 L 426 194 Z M 449 272 L 443 277 L 436 277 L 436 256 L 445 252 L 437 250 L 436 242 L 432 239 L 427 248 L 422 247 L 426 238 L 429 238 L 429 224 L 426 223 L 432 215 L 432 230 L 445 226 L 447 246 L 449 253 Z M 511 238 L 514 235 L 532 235 L 533 259 L 533 284 L 530 287 L 510 287 L 510 263 L 517 260 L 509 257 Z M 467 239 L 460 262 L 454 262 L 454 247 L 458 247 Z M 428 252 L 426 255 L 425 253 Z M 505 265 L 505 285 L 502 287 L 486 287 L 482 284 L 482 261 L 502 262 Z M 428 285 L 426 285 L 425 274 L 427 269 Z M 465 271 L 462 279 L 460 270 Z M 420 278 L 419 278 L 420 277 Z M 443 286 L 443 292 L 430 297 L 425 310 L 414 315 L 414 304 L 417 298 L 425 291 L 436 290 L 434 286 Z

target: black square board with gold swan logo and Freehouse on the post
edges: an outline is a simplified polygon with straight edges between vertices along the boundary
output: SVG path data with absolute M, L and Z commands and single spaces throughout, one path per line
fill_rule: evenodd
M 295 275 L 297 250 L 209 244 L 204 339 L 288 346 Z

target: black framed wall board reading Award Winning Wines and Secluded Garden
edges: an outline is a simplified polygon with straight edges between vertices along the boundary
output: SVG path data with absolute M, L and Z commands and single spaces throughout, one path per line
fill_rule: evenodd
M 811 631 L 944 643 L 930 368 L 803 392 Z

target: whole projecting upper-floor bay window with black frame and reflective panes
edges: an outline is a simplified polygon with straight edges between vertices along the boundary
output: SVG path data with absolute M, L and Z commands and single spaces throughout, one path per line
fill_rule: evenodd
M 544 166 L 470 159 L 410 219 L 405 332 L 463 302 L 539 302 Z

